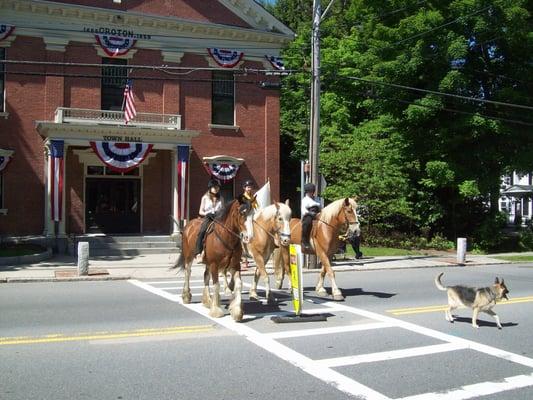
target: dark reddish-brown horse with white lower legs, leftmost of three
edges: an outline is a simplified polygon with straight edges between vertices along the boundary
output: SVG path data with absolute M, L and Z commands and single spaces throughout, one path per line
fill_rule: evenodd
M 232 271 L 234 282 L 234 297 L 229 306 L 231 316 L 235 321 L 241 321 L 242 309 L 242 281 L 240 260 L 242 255 L 241 240 L 248 243 L 253 237 L 254 208 L 250 201 L 244 198 L 236 199 L 226 205 L 215 217 L 206 234 L 204 262 L 204 291 L 202 303 L 208 307 L 211 317 L 224 316 L 220 308 L 220 271 L 229 269 Z M 191 277 L 191 265 L 194 260 L 196 238 L 202 220 L 200 218 L 189 222 L 182 234 L 181 253 L 176 260 L 175 267 L 185 270 L 185 282 L 183 283 L 182 298 L 185 304 L 191 302 L 191 289 L 189 280 Z M 213 280 L 213 295 L 209 290 L 209 278 Z

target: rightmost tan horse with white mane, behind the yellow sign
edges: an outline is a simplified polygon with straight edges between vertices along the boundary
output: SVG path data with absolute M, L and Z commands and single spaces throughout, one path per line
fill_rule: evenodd
M 356 213 L 357 203 L 352 198 L 339 199 L 324 207 L 313 221 L 311 231 L 311 248 L 322 263 L 322 269 L 316 284 L 319 296 L 327 296 L 324 288 L 324 276 L 327 274 L 331 280 L 331 292 L 334 300 L 343 300 L 342 292 L 335 281 L 335 272 L 331 268 L 330 258 L 339 248 L 339 236 L 360 235 L 359 221 Z M 302 224 L 299 219 L 291 220 L 291 243 L 300 244 Z M 274 257 L 276 285 L 281 287 L 283 274 L 289 270 L 288 249 L 280 248 L 279 254 Z

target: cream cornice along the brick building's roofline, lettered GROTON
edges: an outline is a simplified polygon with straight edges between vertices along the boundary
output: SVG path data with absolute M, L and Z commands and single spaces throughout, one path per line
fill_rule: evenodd
M 238 5 L 242 3 L 242 0 L 219 1 L 232 11 L 238 11 L 240 9 Z M 255 19 L 261 23 L 266 23 L 270 14 L 263 10 L 266 15 L 259 15 L 260 11 L 257 10 L 257 7 L 247 9 L 248 11 L 244 14 L 248 16 L 248 19 L 255 15 Z M 240 14 L 243 12 L 241 10 Z M 279 49 L 294 37 L 290 30 L 279 33 L 257 28 L 242 28 L 43 0 L 0 0 L 0 13 L 3 15 L 3 22 L 16 25 L 15 34 L 18 35 L 42 36 L 44 38 L 67 36 L 72 41 L 88 42 L 92 40 L 91 34 L 83 32 L 81 28 L 83 26 L 104 26 L 110 29 L 135 30 L 151 35 L 149 41 L 139 40 L 137 47 L 160 48 L 161 50 L 169 44 L 172 47 L 179 47 L 183 44 L 185 45 L 184 50 L 187 51 L 187 45 L 191 46 L 191 41 L 193 44 L 194 42 L 197 42 L 198 45 L 201 43 L 201 47 L 235 49 L 238 49 L 240 44 L 244 48 L 251 47 L 250 44 L 252 43 L 259 47 L 259 49 L 254 49 L 256 53 L 264 53 L 265 50 L 261 50 L 260 47 L 267 47 L 268 45 L 272 47 L 271 52 L 274 54 L 278 53 Z M 278 28 L 277 25 L 281 23 L 278 21 L 277 24 L 274 24 L 277 20 L 272 16 L 270 17 L 272 20 L 268 20 L 267 25 L 272 29 Z M 58 26 L 62 30 L 68 31 L 57 31 Z M 54 28 L 56 29 L 55 32 Z M 206 45 L 207 43 L 211 43 L 211 46 Z M 249 51 L 249 53 L 253 53 L 253 51 Z

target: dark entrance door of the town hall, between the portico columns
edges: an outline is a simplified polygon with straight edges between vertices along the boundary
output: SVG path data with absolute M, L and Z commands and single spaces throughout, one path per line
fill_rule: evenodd
M 87 178 L 87 233 L 140 233 L 140 179 Z

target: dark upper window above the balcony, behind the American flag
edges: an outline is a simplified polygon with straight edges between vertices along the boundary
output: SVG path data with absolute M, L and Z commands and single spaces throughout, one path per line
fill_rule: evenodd
M 127 68 L 117 67 L 117 65 L 127 65 L 127 60 L 120 58 L 102 59 L 102 110 L 122 110 L 128 71 Z

